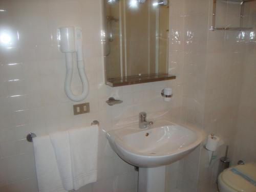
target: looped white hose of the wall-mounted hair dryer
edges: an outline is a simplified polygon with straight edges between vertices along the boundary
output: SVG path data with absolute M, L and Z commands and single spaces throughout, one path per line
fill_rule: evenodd
M 83 60 L 77 61 L 77 68 L 79 72 L 80 79 L 82 81 L 82 94 L 81 95 L 74 95 L 71 91 L 71 81 L 72 81 L 72 74 L 73 74 L 73 57 L 72 53 L 65 53 L 66 57 L 66 79 L 65 79 L 65 92 L 66 95 L 73 101 L 82 101 L 85 99 L 89 93 L 89 83 L 84 72 Z

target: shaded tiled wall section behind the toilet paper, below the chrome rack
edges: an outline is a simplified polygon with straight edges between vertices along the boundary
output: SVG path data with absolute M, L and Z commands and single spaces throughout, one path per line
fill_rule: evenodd
M 254 5 L 254 3 L 249 4 L 247 5 L 249 7 Z M 211 6 L 210 3 L 210 10 Z M 237 21 L 235 15 L 239 14 L 240 6 L 228 3 L 226 12 L 222 16 L 226 26 L 229 23 L 234 24 L 234 21 Z M 211 19 L 210 16 L 209 18 Z M 250 26 L 247 24 L 245 27 Z M 243 94 L 245 61 L 246 58 L 253 57 L 247 51 L 250 49 L 248 47 L 249 39 L 255 41 L 255 37 L 252 37 L 251 34 L 253 31 L 208 32 L 204 129 L 208 134 L 215 133 L 220 136 L 224 145 L 216 152 L 218 158 L 209 167 L 207 166 L 206 151 L 204 148 L 201 149 L 198 191 L 217 190 L 219 158 L 224 156 L 226 145 L 229 145 L 231 164 L 237 163 L 232 157 L 232 153 L 236 151 L 234 141 L 236 140 L 239 105 L 241 105 L 240 97 Z

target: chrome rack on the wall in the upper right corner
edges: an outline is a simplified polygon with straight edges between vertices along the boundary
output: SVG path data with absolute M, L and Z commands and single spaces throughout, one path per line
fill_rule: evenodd
M 216 27 L 216 4 L 218 0 L 213 0 L 213 5 L 212 5 L 212 26 L 210 30 L 234 30 L 234 31 L 250 31 L 252 28 L 246 28 L 243 27 L 243 17 L 244 17 L 244 4 L 248 2 L 253 2 L 256 0 L 229 0 L 232 2 L 239 3 L 241 5 L 241 11 L 240 11 L 240 22 L 239 22 L 239 27 Z M 227 0 L 224 0 L 228 2 Z

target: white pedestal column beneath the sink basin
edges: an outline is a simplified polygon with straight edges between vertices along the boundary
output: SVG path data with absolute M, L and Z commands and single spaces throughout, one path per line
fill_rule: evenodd
M 139 168 L 138 192 L 164 192 L 165 166 L 154 168 Z

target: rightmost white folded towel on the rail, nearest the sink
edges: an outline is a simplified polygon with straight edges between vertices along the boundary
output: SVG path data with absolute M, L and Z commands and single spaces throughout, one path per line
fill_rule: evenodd
M 97 180 L 98 125 L 69 131 L 74 190 Z

